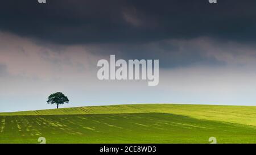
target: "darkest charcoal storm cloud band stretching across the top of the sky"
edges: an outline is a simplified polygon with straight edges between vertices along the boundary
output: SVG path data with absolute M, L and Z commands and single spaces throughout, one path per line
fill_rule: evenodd
M 61 44 L 199 36 L 255 41 L 256 1 L 3 1 L 0 30 Z

